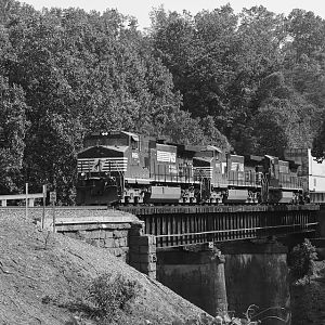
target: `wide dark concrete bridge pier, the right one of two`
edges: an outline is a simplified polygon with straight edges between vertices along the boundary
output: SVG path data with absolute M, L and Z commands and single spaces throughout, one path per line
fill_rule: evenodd
M 263 312 L 262 324 L 290 324 L 287 248 L 278 243 L 234 243 L 220 247 L 225 257 L 229 310 L 243 315 L 250 304 Z M 286 323 L 276 317 L 286 320 Z

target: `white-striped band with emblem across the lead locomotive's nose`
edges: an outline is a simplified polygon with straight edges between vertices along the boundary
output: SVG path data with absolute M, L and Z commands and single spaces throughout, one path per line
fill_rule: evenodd
M 117 158 L 82 158 L 78 159 L 78 173 L 122 171 L 128 168 L 127 157 Z

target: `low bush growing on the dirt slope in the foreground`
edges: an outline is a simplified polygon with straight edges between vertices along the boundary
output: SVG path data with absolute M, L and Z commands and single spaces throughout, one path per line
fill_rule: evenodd
M 95 306 L 99 316 L 114 318 L 119 310 L 136 297 L 140 286 L 138 282 L 128 280 L 121 274 L 113 276 L 104 273 L 92 281 L 89 287 L 89 299 Z

